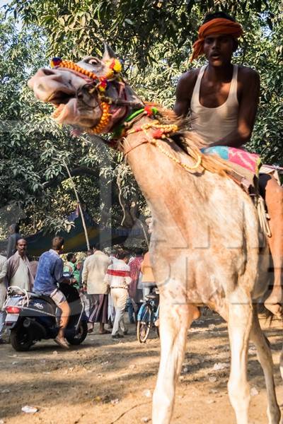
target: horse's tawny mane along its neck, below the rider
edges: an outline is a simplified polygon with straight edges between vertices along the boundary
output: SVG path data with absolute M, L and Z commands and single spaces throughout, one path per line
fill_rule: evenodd
M 187 127 L 190 125 L 190 119 L 187 117 L 178 117 L 173 110 L 166 109 L 161 105 L 153 102 L 146 102 L 146 105 L 156 107 L 158 110 L 158 120 L 161 124 L 175 124 L 178 126 L 178 132 L 171 136 L 171 139 L 192 158 L 202 156 L 202 167 L 209 172 L 227 176 L 229 172 L 233 171 L 226 160 L 219 158 L 217 155 L 204 155 L 200 149 L 204 143 L 200 136 L 192 134 Z

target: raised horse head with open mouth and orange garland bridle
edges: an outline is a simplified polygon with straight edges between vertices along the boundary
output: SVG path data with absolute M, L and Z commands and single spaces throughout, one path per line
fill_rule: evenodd
M 52 117 L 58 124 L 108 133 L 133 107 L 143 107 L 123 80 L 120 61 L 108 45 L 102 59 L 88 56 L 74 64 L 54 58 L 51 66 L 39 69 L 28 86 L 39 100 L 54 105 Z

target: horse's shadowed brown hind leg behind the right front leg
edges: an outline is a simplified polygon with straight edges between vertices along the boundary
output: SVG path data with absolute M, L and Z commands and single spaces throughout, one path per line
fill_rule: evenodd
M 257 305 L 253 306 L 253 325 L 250 331 L 250 340 L 255 343 L 258 352 L 258 360 L 265 375 L 265 385 L 267 389 L 267 417 L 268 424 L 279 424 L 280 409 L 277 404 L 275 393 L 275 381 L 273 377 L 273 360 L 268 341 L 260 328 L 258 321 Z

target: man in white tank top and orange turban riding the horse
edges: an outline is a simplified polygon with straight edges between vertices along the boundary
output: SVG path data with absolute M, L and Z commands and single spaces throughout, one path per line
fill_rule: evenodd
M 190 112 L 192 131 L 199 134 L 204 146 L 242 148 L 250 141 L 260 93 L 260 77 L 246 66 L 231 64 L 243 34 L 241 25 L 224 12 L 209 13 L 193 45 L 191 61 L 201 54 L 208 64 L 181 76 L 175 112 Z M 275 268 L 272 293 L 265 307 L 282 316 L 283 266 L 283 189 L 271 175 L 260 174 L 260 194 L 270 216 L 268 238 Z

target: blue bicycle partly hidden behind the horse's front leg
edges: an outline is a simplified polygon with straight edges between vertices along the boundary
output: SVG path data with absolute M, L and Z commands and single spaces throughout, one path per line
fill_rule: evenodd
M 137 315 L 137 339 L 139 343 L 145 343 L 149 337 L 149 331 L 155 326 L 156 320 L 159 318 L 159 305 L 156 306 L 158 294 L 151 293 L 146 295 L 146 300 L 139 308 Z M 159 337 L 159 328 L 155 326 L 157 336 Z

